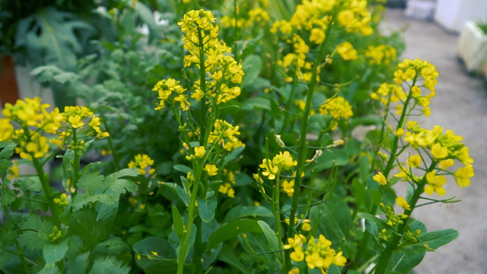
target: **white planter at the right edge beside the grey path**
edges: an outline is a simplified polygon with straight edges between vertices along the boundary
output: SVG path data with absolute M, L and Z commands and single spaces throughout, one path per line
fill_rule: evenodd
M 458 53 L 469 71 L 481 75 L 486 72 L 487 35 L 473 21 L 468 21 L 461 30 Z

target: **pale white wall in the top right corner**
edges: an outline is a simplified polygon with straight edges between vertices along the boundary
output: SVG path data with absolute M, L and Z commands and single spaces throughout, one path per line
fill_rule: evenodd
M 487 0 L 437 0 L 435 21 L 441 26 L 460 32 L 469 20 L 487 23 Z

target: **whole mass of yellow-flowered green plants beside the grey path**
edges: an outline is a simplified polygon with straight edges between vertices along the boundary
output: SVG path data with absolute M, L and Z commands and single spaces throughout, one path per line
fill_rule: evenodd
M 408 273 L 458 236 L 412 214 L 457 202 L 431 195 L 446 195 L 449 176 L 468 186 L 473 160 L 461 136 L 413 120 L 429 116 L 438 72 L 419 59 L 397 64 L 377 30 L 382 5 L 250 1 L 243 13 L 237 4 L 182 16 L 179 65 L 159 74 L 151 65 L 160 79 L 126 93 L 149 104 L 143 113 L 121 100 L 63 112 L 39 99 L 5 106 L 0 269 Z M 143 56 L 124 52 L 108 57 Z M 132 121 L 141 131 L 122 134 L 150 140 L 146 148 L 118 131 Z M 356 137 L 364 125 L 376 129 Z M 91 148 L 110 151 L 108 163 L 82 164 Z M 44 168 L 58 158 L 54 187 Z M 19 175 L 21 164 L 36 174 Z

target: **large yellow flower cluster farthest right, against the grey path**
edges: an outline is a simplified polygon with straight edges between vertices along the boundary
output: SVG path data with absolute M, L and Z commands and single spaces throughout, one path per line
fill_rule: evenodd
M 472 163 L 474 162 L 470 156 L 469 148 L 462 143 L 462 137 L 455 135 L 454 132 L 448 130 L 443 132 L 440 126 L 433 127 L 432 130 L 421 128 L 416 121 L 408 121 L 407 130 L 404 140 L 414 148 L 423 148 L 429 151 L 432 159 L 438 162 L 438 172 L 431 171 L 426 174 L 426 181 L 428 185 L 425 186 L 425 192 L 428 195 L 437 193 L 445 195 L 446 191 L 443 185 L 446 184 L 447 178 L 443 174 L 446 170 L 453 166 L 454 160 L 463 163 L 464 166 L 459 168 L 453 176 L 460 187 L 469 186 L 471 184 L 470 178 L 474 176 Z M 401 172 L 395 176 L 401 178 L 417 178 L 412 174 L 412 168 L 420 168 L 421 157 L 413 155 L 407 161 L 408 167 L 400 166 Z M 442 174 L 439 174 L 442 173 Z

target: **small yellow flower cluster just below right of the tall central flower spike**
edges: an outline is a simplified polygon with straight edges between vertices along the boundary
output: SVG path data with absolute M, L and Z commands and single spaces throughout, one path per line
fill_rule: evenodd
M 208 143 L 217 143 L 226 151 L 230 152 L 239 146 L 245 147 L 245 143 L 240 142 L 237 138 L 239 126 L 232 126 L 228 121 L 217 120 L 213 124 L 213 131 L 210 132 Z

